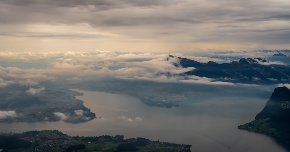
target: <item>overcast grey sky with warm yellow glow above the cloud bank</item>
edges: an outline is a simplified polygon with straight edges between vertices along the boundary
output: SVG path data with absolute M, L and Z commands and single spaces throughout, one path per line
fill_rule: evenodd
M 290 48 L 287 0 L 1 0 L 0 52 Z

